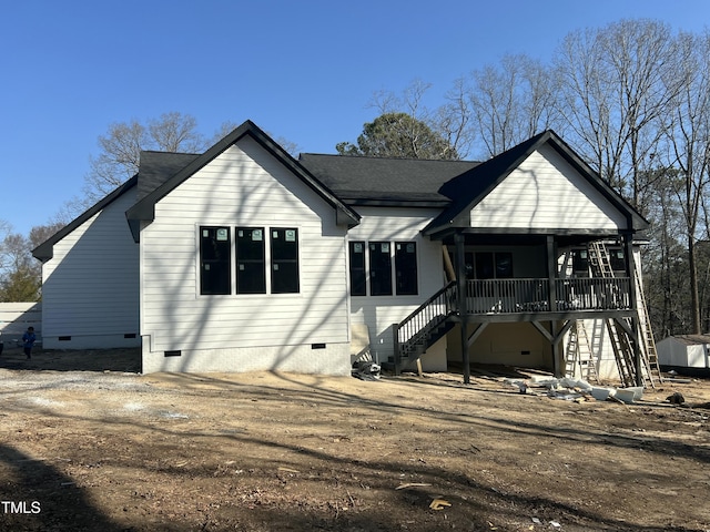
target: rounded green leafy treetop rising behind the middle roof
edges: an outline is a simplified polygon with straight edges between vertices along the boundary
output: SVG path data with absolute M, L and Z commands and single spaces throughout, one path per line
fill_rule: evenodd
M 363 126 L 357 144 L 341 142 L 341 155 L 368 157 L 458 158 L 445 139 L 407 113 L 386 113 Z

